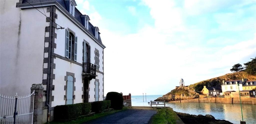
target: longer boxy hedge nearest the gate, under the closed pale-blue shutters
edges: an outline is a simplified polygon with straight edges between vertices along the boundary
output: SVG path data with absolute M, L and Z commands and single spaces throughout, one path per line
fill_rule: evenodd
M 81 115 L 86 115 L 91 111 L 91 103 L 77 103 L 70 105 L 60 105 L 54 107 L 54 120 L 70 120 Z

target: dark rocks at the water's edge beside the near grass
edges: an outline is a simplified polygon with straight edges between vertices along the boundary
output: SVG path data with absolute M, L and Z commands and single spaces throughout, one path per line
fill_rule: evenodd
M 229 121 L 226 120 L 217 120 L 212 115 L 190 115 L 186 113 L 176 112 L 176 114 L 179 116 L 179 118 L 185 123 L 189 124 L 232 124 Z

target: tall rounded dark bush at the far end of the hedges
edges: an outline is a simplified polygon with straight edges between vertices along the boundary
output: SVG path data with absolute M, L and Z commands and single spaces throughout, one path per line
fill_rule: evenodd
M 122 109 L 123 108 L 123 96 L 120 93 L 117 92 L 109 92 L 106 96 L 106 100 L 111 101 L 110 108 L 113 109 Z

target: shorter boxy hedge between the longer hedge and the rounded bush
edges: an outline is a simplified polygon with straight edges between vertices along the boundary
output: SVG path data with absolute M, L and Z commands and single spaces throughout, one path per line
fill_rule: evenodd
M 92 102 L 92 111 L 98 113 L 103 110 L 106 110 L 110 107 L 110 103 L 110 100 Z

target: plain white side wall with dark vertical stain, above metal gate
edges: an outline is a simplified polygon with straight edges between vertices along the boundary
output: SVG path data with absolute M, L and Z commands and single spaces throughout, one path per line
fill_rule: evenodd
M 5 95 L 27 95 L 32 84 L 42 83 L 45 27 L 49 25 L 36 9 L 16 8 L 17 2 L 0 4 L 0 93 Z

